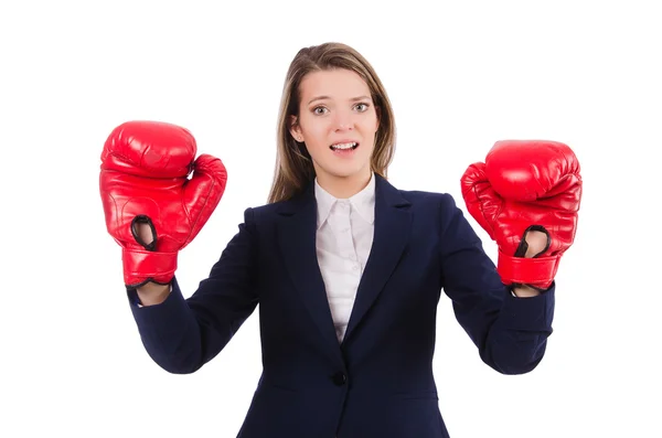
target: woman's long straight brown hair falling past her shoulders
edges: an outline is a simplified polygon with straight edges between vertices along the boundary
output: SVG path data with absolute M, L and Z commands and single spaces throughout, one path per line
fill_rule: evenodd
M 355 72 L 370 88 L 380 120 L 371 168 L 376 174 L 387 178 L 388 165 L 395 152 L 395 121 L 391 102 L 380 77 L 367 60 L 346 44 L 313 45 L 301 49 L 287 72 L 278 114 L 278 151 L 268 203 L 289 200 L 314 178 L 314 168 L 306 145 L 297 142 L 290 133 L 290 118 L 299 118 L 299 87 L 303 77 L 312 72 L 333 68 Z

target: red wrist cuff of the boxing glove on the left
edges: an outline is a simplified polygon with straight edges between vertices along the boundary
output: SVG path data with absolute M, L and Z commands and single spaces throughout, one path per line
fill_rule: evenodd
M 168 285 L 177 270 L 178 253 L 157 253 L 140 249 L 122 249 L 125 285 L 137 288 L 148 281 Z

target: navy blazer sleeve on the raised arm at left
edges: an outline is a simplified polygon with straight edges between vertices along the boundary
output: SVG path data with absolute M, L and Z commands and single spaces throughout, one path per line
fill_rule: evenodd
M 136 291 L 129 302 L 140 339 L 151 359 L 174 374 L 197 371 L 215 357 L 257 307 L 255 279 L 256 226 L 253 210 L 214 264 L 210 276 L 184 299 L 177 278 L 166 301 L 138 306 Z

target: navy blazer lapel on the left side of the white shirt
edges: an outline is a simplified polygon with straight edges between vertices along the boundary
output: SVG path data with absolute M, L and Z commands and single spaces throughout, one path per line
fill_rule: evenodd
M 340 343 L 317 258 L 317 202 L 313 185 L 284 204 L 278 226 L 278 242 L 290 278 L 316 322 L 333 359 L 341 360 Z

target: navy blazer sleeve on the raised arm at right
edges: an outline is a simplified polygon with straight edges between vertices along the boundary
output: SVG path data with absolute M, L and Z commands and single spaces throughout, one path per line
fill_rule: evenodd
M 552 334 L 556 285 L 536 297 L 514 297 L 450 194 L 442 195 L 440 216 L 441 280 L 458 322 L 492 368 L 534 370 Z

